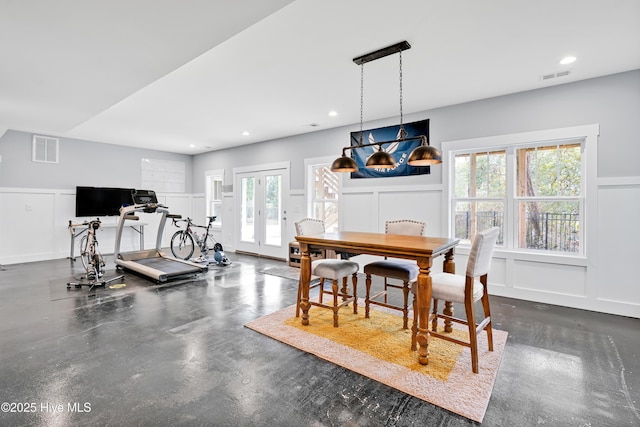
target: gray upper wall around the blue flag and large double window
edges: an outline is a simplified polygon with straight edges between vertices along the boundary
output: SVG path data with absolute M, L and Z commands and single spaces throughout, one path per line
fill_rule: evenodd
M 640 70 L 505 95 L 407 115 L 406 122 L 431 119 L 431 143 L 600 124 L 598 176 L 640 174 Z M 397 124 L 398 118 L 368 122 L 365 128 Z M 338 157 L 353 126 L 318 131 L 195 156 L 193 191 L 204 191 L 204 171 L 291 161 L 291 189 L 304 187 L 304 159 Z M 430 176 L 346 180 L 345 187 L 442 183 L 441 168 Z M 228 182 L 227 184 L 230 184 Z

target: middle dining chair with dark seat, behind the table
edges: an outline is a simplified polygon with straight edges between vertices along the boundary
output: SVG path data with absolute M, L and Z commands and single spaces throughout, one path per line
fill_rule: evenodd
M 401 219 L 395 221 L 385 222 L 386 234 L 404 234 L 411 236 L 421 236 L 424 232 L 424 222 L 414 221 L 410 219 Z M 370 305 L 375 304 L 386 308 L 402 311 L 403 328 L 408 328 L 409 317 L 409 291 L 411 283 L 415 282 L 418 278 L 420 269 L 415 261 L 409 261 L 404 259 L 391 259 L 386 258 L 384 260 L 375 261 L 364 266 L 364 273 L 366 275 L 366 290 L 367 294 L 364 300 L 365 304 L 365 318 L 369 318 Z M 371 276 L 384 277 L 384 288 L 382 291 L 371 295 Z M 390 282 L 391 280 L 400 280 L 402 284 Z M 387 295 L 389 288 L 402 289 L 403 293 L 403 305 L 398 306 L 391 304 L 388 301 Z M 382 298 L 382 300 L 380 300 Z

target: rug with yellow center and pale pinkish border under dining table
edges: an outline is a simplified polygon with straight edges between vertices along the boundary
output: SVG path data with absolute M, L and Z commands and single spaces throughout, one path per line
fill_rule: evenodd
M 372 309 L 364 317 L 340 310 L 338 328 L 333 328 L 330 310 L 312 307 L 310 322 L 302 326 L 295 306 L 263 316 L 245 326 L 329 362 L 396 388 L 419 399 L 471 420 L 482 422 L 489 404 L 507 332 L 493 330 L 494 351 L 487 349 L 486 334 L 479 340 L 480 373 L 471 371 L 469 348 L 432 338 L 429 365 L 420 365 L 410 350 L 411 332 L 402 329 L 402 317 Z M 412 314 L 410 314 L 412 316 Z M 466 334 L 459 330 L 456 334 Z M 329 331 L 329 332 L 327 332 Z

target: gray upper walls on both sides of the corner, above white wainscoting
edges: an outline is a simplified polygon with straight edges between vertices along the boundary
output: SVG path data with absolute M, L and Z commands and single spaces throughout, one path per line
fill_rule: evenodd
M 638 176 L 640 166 L 640 70 L 406 115 L 431 119 L 431 141 L 477 138 L 584 124 L 600 124 L 598 176 Z M 368 122 L 365 128 L 396 124 L 398 118 Z M 204 171 L 291 161 L 291 189 L 304 187 L 304 159 L 337 157 L 352 126 L 292 136 L 197 156 L 60 139 L 60 163 L 31 161 L 31 133 L 9 130 L 0 138 L 0 187 L 75 188 L 76 185 L 139 187 L 142 158 L 183 161 L 186 192 L 204 192 Z M 432 175 L 345 180 L 345 187 L 440 184 Z M 228 182 L 227 184 L 231 184 Z

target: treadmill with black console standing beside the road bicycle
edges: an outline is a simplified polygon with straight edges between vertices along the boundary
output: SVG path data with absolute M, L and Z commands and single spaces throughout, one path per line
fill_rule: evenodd
M 132 193 L 133 205 L 120 208 L 120 218 L 116 228 L 116 244 L 114 259 L 116 266 L 125 270 L 139 273 L 156 282 L 195 275 L 207 271 L 207 266 L 174 258 L 162 251 L 162 235 L 167 218 L 181 218 L 180 215 L 172 215 L 169 209 L 158 203 L 155 191 L 135 190 Z M 159 213 L 162 215 L 158 225 L 156 236 L 156 248 L 133 252 L 120 252 L 122 230 L 128 225 L 127 221 L 137 221 L 136 212 Z

